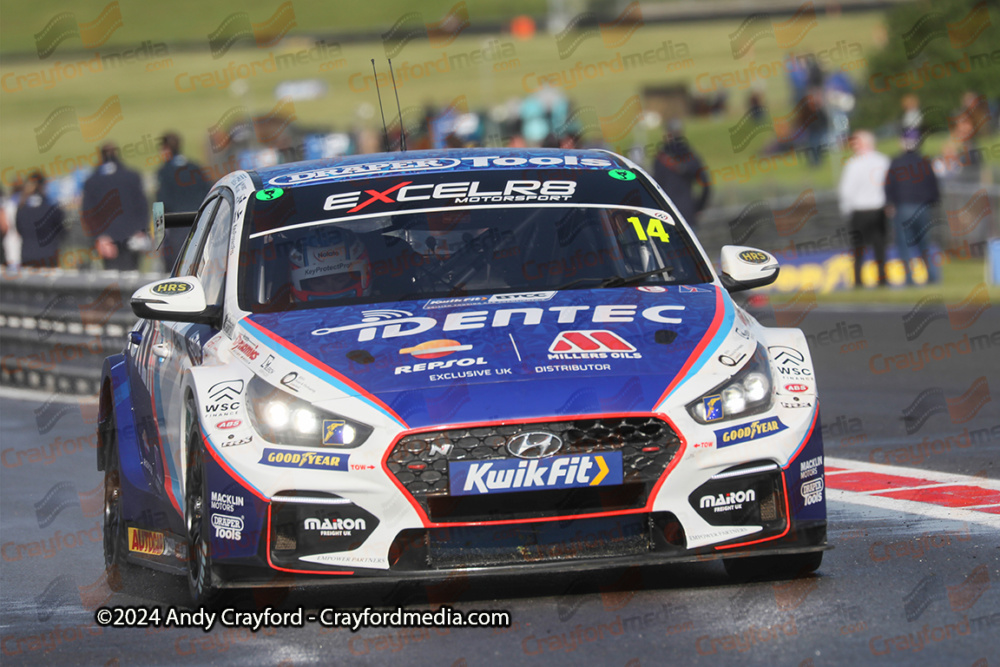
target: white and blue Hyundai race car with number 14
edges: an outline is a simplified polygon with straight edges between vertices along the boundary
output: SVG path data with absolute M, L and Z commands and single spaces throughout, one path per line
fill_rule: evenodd
M 809 349 L 606 151 L 234 172 L 106 360 L 109 575 L 226 588 L 724 559 L 819 567 Z M 162 219 L 160 220 L 162 223 Z

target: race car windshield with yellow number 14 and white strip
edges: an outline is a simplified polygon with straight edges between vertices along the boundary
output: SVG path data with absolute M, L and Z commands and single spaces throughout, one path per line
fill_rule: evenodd
M 276 312 L 712 280 L 673 215 L 634 183 L 628 184 L 630 203 L 610 204 L 565 194 L 579 190 L 583 179 L 520 180 L 515 183 L 549 194 L 495 204 L 487 197 L 435 202 L 433 194 L 450 191 L 440 178 L 426 185 L 419 180 L 403 181 L 393 194 L 385 192 L 391 184 L 354 185 L 346 193 L 343 185 L 258 191 L 244 225 L 241 306 Z M 460 185 L 468 194 L 470 182 Z M 532 192 L 531 185 L 524 188 Z M 505 190 L 501 181 L 478 192 L 502 197 Z

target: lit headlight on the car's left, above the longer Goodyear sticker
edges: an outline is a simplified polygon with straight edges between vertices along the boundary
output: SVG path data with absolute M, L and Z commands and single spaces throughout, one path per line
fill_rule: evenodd
M 318 410 L 258 377 L 247 383 L 247 414 L 264 439 L 282 445 L 350 448 L 372 434 L 371 426 Z

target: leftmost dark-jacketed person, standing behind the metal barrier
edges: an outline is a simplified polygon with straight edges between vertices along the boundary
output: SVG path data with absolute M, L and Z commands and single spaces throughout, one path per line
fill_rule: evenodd
M 59 266 L 59 246 L 66 228 L 62 209 L 45 194 L 45 175 L 28 176 L 17 207 L 15 226 L 21 235 L 21 266 Z

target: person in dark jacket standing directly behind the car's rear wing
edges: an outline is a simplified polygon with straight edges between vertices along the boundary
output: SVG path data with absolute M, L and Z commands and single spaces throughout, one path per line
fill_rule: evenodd
M 156 201 L 163 202 L 165 213 L 197 211 L 211 185 L 200 165 L 181 154 L 181 138 L 176 132 L 160 137 L 163 165 L 156 172 Z M 163 266 L 169 271 L 188 235 L 186 229 L 168 229 L 160 248 Z

